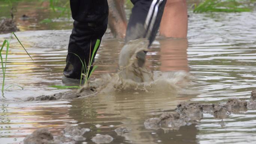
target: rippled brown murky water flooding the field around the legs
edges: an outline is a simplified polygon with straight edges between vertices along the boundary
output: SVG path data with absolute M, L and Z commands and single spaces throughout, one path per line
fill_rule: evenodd
M 28 96 L 66 91 L 48 86 L 70 85 L 63 82 L 62 71 L 71 30 L 45 30 L 54 29 L 46 27 L 17 32 L 34 62 L 16 40 L 12 40 L 6 88 L 16 84 L 24 90 L 12 87 L 4 91 L 5 98 L 0 98 L 0 143 L 18 144 L 42 127 L 58 135 L 71 124 L 92 129 L 85 135 L 88 144 L 93 143 L 91 138 L 95 134 L 111 135 L 112 144 L 254 144 L 256 110 L 231 114 L 223 121 L 204 114 L 197 125 L 183 126 L 179 131 L 144 128 L 144 120 L 157 117 L 163 111 L 174 111 L 180 101 L 217 103 L 226 102 L 228 98 L 248 99 L 256 89 L 256 11 L 189 15 L 188 40 L 158 37 L 146 62 L 152 71 L 191 73 L 193 79 L 188 88 L 193 91 L 181 93 L 118 91 L 72 101 L 16 102 Z M 22 30 L 31 30 L 24 27 Z M 1 34 L 0 41 L 9 36 Z M 98 68 L 93 78 L 116 71 L 123 43 L 108 36 L 104 38 L 96 56 Z M 120 137 L 113 131 L 118 127 L 132 131 Z

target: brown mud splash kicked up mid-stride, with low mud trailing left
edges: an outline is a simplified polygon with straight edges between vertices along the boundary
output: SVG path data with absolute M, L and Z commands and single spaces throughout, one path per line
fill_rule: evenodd
M 138 66 L 138 52 L 146 51 L 149 42 L 146 39 L 129 41 L 119 55 L 119 70 L 117 73 L 105 74 L 101 78 L 86 83 L 81 89 L 62 92 L 51 96 L 42 95 L 29 97 L 25 101 L 45 101 L 57 99 L 74 99 L 123 90 L 139 90 L 145 92 L 178 92 L 185 86 L 188 74 L 184 71 L 160 72 L 148 71 Z

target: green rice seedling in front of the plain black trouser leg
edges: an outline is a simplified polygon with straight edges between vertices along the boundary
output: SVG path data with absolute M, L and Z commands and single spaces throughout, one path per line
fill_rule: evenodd
M 96 41 L 96 43 L 95 43 L 95 46 L 94 46 L 94 49 L 93 49 L 93 51 L 92 51 L 92 57 L 91 57 L 91 55 L 90 55 L 90 57 L 89 57 L 88 66 L 85 65 L 85 64 L 86 64 L 85 60 L 84 60 L 84 59 L 82 60 L 82 59 L 79 57 L 79 55 L 77 55 L 76 53 L 70 52 L 71 54 L 76 55 L 76 56 L 79 58 L 79 60 L 80 60 L 80 62 L 81 62 L 81 64 L 82 64 L 82 71 L 81 71 L 81 75 L 80 75 L 80 86 L 60 86 L 60 85 L 53 85 L 53 86 L 50 86 L 50 87 L 52 87 L 52 88 L 58 88 L 58 89 L 80 88 L 80 87 L 81 87 L 81 84 L 82 84 L 82 80 L 84 80 L 84 83 L 87 83 L 87 82 L 89 81 L 90 77 L 91 77 L 91 74 L 92 74 L 92 73 L 95 71 L 95 69 L 98 67 L 97 65 L 95 65 L 95 66 L 92 68 L 92 70 L 91 70 L 92 60 L 93 60 L 93 58 L 94 58 L 95 55 L 96 55 L 96 51 L 97 51 L 97 48 L 98 48 L 99 45 L 100 45 L 100 40 L 97 39 L 97 41 Z M 91 53 L 91 48 L 90 48 L 90 53 Z M 87 68 L 86 68 L 86 67 L 87 67 Z M 91 71 L 90 71 L 90 70 L 91 70 Z

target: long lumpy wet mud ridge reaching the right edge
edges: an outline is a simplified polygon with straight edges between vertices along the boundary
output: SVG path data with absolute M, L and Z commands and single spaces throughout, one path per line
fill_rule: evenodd
M 249 100 L 238 98 L 228 99 L 225 104 L 199 104 L 198 102 L 181 102 L 177 105 L 176 112 L 163 113 L 159 117 L 145 120 L 146 129 L 179 130 L 181 126 L 198 123 L 204 113 L 214 116 L 214 119 L 225 119 L 231 113 L 239 114 L 247 110 L 256 109 L 256 90 L 252 91 Z

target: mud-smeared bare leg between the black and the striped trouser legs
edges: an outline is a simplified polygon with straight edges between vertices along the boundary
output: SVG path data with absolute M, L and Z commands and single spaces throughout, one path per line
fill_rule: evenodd
M 127 19 L 124 10 L 124 0 L 107 0 L 109 3 L 109 27 L 115 38 L 124 39 Z

